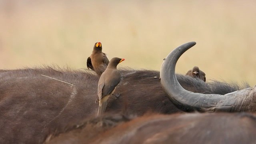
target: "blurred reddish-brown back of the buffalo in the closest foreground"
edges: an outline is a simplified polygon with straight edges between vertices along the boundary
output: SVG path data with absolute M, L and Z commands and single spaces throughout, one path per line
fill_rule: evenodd
M 116 117 L 116 116 L 114 116 Z M 122 117 L 122 116 L 119 116 Z M 113 118 L 114 119 L 114 118 Z M 151 114 L 116 127 L 86 126 L 46 140 L 47 144 L 255 144 L 250 113 Z M 94 124 L 95 125 L 95 124 Z

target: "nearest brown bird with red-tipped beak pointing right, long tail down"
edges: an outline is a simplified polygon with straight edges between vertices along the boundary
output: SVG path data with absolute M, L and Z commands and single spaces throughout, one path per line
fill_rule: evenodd
M 121 74 L 117 71 L 116 66 L 122 61 L 124 61 L 124 58 L 112 58 L 108 67 L 100 76 L 98 82 L 99 107 L 97 116 L 102 115 L 105 112 L 108 97 L 114 93 L 116 86 L 121 80 Z

